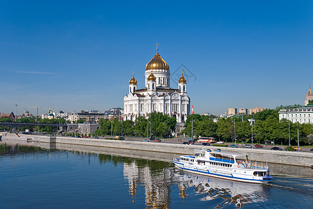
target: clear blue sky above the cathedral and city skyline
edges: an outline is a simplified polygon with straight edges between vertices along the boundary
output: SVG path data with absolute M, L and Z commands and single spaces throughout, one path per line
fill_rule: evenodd
M 313 1 L 2 0 L 0 112 L 123 107 L 157 42 L 195 113 L 303 104 L 313 84 Z

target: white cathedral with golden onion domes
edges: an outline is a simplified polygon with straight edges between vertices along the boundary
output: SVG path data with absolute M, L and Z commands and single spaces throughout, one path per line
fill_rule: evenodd
M 124 120 L 148 118 L 153 111 L 158 111 L 174 116 L 177 123 L 185 123 L 190 114 L 190 98 L 183 73 L 177 87 L 170 88 L 170 66 L 161 58 L 157 44 L 157 54 L 145 65 L 145 87 L 137 88 L 134 72 L 129 81 L 129 94 L 124 97 Z

